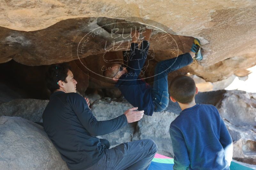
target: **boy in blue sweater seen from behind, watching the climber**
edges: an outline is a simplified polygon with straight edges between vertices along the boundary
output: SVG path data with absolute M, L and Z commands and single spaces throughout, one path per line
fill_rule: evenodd
M 233 144 L 229 131 L 213 105 L 196 104 L 195 81 L 185 75 L 170 84 L 170 99 L 182 112 L 170 125 L 174 170 L 228 170 Z

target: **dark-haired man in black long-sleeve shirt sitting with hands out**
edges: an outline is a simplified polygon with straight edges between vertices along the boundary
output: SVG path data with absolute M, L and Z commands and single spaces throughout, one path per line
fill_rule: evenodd
M 75 93 L 77 82 L 66 64 L 50 66 L 47 77 L 53 93 L 43 112 L 43 127 L 70 169 L 148 168 L 157 151 L 154 141 L 145 139 L 108 149 L 106 140 L 95 137 L 140 120 L 144 111 L 132 108 L 114 119 L 97 121 L 89 100 Z M 126 159 L 129 154 L 134 156 Z

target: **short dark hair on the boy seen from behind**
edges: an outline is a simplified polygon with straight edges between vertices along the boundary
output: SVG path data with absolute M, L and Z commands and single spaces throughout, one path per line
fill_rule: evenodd
M 196 94 L 195 81 L 186 75 L 178 75 L 170 84 L 170 95 L 180 103 L 190 103 Z

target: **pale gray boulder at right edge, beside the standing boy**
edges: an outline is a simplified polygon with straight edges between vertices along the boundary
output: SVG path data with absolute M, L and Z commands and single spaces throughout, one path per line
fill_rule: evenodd
M 256 165 L 256 94 L 227 91 L 217 108 L 233 139 L 233 157 Z

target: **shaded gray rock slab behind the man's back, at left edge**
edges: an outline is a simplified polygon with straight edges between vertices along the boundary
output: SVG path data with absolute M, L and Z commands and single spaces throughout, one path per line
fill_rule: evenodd
M 48 103 L 48 100 L 15 99 L 0 104 L 0 116 L 22 117 L 32 122 L 43 122 L 43 111 Z

